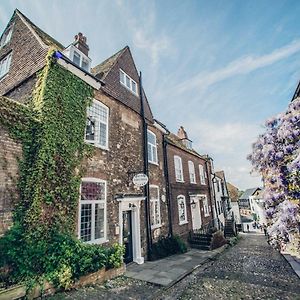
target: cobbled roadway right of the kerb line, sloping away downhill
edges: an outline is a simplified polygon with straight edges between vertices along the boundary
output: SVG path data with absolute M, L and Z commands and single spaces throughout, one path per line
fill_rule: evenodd
M 155 299 L 300 299 L 300 279 L 262 234 L 242 240 Z

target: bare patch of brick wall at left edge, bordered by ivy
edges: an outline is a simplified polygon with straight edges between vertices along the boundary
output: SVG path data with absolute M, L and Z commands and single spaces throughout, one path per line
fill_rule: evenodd
M 11 225 L 11 213 L 18 199 L 18 159 L 22 157 L 21 145 L 0 127 L 0 235 Z

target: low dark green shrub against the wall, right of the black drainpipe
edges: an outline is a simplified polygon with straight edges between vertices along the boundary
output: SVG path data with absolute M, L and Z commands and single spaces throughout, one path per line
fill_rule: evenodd
M 156 260 L 177 253 L 185 253 L 186 251 L 186 244 L 179 236 L 161 237 L 152 245 L 151 260 Z

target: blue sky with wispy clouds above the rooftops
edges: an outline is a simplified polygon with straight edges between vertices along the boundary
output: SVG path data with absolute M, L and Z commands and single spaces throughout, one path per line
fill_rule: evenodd
M 246 157 L 300 80 L 300 1 L 2 0 L 67 46 L 88 39 L 92 65 L 132 51 L 154 117 L 214 159 L 240 189 L 261 185 Z

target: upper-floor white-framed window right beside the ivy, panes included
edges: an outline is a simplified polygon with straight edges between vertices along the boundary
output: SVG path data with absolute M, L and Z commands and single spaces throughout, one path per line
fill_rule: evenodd
M 87 109 L 85 128 L 85 141 L 87 143 L 108 149 L 108 117 L 108 107 L 93 99 L 92 105 Z

